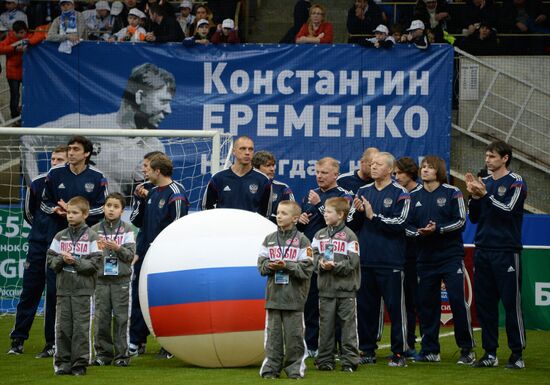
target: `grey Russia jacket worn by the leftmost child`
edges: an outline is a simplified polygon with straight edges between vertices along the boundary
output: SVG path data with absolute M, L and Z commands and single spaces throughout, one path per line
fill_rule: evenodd
M 97 234 L 86 224 L 69 226 L 57 233 L 46 254 L 48 266 L 57 274 L 58 296 L 93 295 L 101 251 Z M 71 253 L 76 262 L 63 261 L 62 251 Z

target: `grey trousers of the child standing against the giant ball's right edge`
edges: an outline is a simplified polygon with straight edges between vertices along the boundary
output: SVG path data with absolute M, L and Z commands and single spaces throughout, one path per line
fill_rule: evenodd
M 307 349 L 304 340 L 304 312 L 267 309 L 265 325 L 265 359 L 260 375 L 303 377 L 306 371 Z

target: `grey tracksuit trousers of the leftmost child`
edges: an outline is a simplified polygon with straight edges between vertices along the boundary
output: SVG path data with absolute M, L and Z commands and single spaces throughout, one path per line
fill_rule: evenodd
M 57 296 L 55 370 L 71 371 L 90 364 L 91 304 L 89 295 Z

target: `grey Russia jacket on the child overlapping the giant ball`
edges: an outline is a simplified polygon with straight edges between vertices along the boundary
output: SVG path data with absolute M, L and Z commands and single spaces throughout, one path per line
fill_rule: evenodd
M 281 270 L 288 279 L 286 284 L 276 283 L 275 271 L 268 267 L 270 262 L 281 259 L 286 264 Z M 260 250 L 258 270 L 267 276 L 266 309 L 304 311 L 313 273 L 311 246 L 304 234 L 296 227 L 269 234 Z

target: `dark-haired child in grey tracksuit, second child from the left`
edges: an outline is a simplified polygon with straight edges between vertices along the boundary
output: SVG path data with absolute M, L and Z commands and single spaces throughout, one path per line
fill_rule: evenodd
M 93 364 L 96 366 L 111 363 L 115 366 L 128 366 L 130 362 L 128 314 L 136 243 L 132 226 L 120 219 L 124 204 L 122 194 L 109 194 L 103 206 L 105 219 L 92 227 L 99 236 L 99 248 L 103 250 L 95 291 L 96 358 Z

